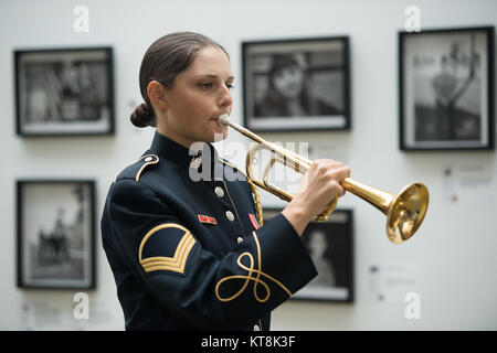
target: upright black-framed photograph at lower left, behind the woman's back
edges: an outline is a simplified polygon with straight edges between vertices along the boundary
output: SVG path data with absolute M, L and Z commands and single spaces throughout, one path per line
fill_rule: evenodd
M 18 286 L 95 288 L 95 182 L 20 180 Z

